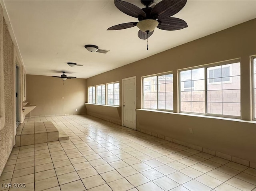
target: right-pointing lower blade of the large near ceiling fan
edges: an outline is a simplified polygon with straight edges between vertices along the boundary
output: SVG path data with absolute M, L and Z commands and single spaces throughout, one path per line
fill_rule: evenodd
M 160 24 L 157 26 L 157 28 L 168 31 L 180 30 L 188 27 L 186 21 L 174 17 L 161 19 L 159 23 Z

